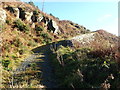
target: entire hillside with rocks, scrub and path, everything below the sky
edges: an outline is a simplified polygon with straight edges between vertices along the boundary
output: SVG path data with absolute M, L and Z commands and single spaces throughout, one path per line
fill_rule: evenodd
M 0 30 L 2 42 L 0 87 L 2 88 L 100 87 L 100 84 L 110 75 L 108 71 L 111 68 L 119 69 L 120 42 L 117 36 L 104 30 L 92 32 L 72 21 L 59 20 L 39 10 L 34 3 L 1 2 Z M 88 61 L 78 62 L 81 59 Z M 108 59 L 111 61 L 107 61 Z M 102 81 L 98 81 L 96 85 L 93 82 L 86 83 L 90 80 L 87 76 L 90 73 L 87 72 L 91 72 L 92 69 L 74 67 L 78 64 L 84 66 L 85 63 L 92 61 L 97 62 L 98 65 L 106 64 L 110 68 L 105 68 L 105 77 L 101 76 Z M 64 72 L 68 72 L 71 76 L 62 73 L 63 68 Z M 115 78 L 114 83 L 110 82 L 112 87 L 119 87 L 119 76 L 116 76 L 120 72 L 118 69 L 114 72 L 110 71 Z M 78 75 L 75 72 L 80 74 L 80 70 L 87 78 L 84 78 L 85 82 L 76 85 L 77 78 L 71 77 L 74 77 L 73 74 Z M 100 74 L 103 73 L 104 71 Z

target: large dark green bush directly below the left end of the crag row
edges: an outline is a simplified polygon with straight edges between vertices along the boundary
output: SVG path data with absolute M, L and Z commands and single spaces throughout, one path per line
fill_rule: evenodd
M 29 29 L 30 29 L 20 19 L 14 21 L 14 27 L 17 27 L 20 31 L 29 31 Z

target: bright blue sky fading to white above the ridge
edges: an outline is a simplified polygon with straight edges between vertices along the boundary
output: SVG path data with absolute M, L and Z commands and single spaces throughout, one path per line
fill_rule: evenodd
M 43 0 L 31 0 L 42 9 Z M 91 31 L 104 29 L 118 35 L 118 0 L 47 0 L 44 12 L 85 26 Z

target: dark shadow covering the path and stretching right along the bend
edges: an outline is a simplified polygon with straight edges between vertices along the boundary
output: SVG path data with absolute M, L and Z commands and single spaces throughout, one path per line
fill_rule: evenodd
M 38 59 L 41 59 L 41 62 L 38 62 L 38 66 L 41 68 L 42 71 L 42 81 L 41 83 L 45 85 L 47 88 L 55 88 L 57 87 L 56 77 L 54 74 L 54 68 L 51 65 L 50 55 L 49 53 L 52 53 L 50 50 L 51 46 L 54 48 L 62 46 L 72 46 L 72 43 L 69 40 L 63 40 L 59 42 L 53 42 L 47 45 L 43 45 L 40 47 L 37 47 L 33 49 L 32 51 L 35 54 L 42 54 L 42 57 L 39 57 Z

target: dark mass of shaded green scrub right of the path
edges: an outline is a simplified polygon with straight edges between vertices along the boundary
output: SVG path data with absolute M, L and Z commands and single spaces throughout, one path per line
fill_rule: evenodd
M 59 78 L 60 87 L 98 88 L 110 74 L 114 77 L 114 80 L 109 79 L 108 81 L 111 87 L 114 88 L 120 84 L 117 65 L 111 54 L 94 57 L 89 48 L 81 48 L 71 52 L 62 47 L 57 51 L 62 53 L 62 58 L 59 61 L 63 62 L 64 66 L 61 67 L 56 53 L 51 60 L 55 66 L 55 74 Z M 50 55 L 52 56 L 52 54 Z

